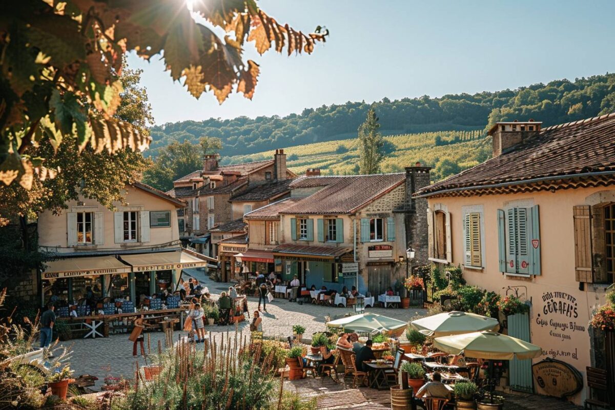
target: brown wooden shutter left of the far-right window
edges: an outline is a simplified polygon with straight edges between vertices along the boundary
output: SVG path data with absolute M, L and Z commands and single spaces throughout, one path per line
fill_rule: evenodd
M 573 207 L 574 273 L 577 282 L 593 283 L 592 213 L 589 205 Z

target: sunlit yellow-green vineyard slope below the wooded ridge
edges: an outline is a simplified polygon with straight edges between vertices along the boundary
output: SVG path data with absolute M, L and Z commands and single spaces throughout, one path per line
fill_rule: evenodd
M 417 161 L 434 167 L 432 179 L 446 178 L 488 159 L 491 141 L 482 131 L 428 132 L 389 135 L 383 172 L 399 172 Z M 349 175 L 358 172 L 359 151 L 356 139 L 327 141 L 285 148 L 287 166 L 303 174 L 307 168 L 320 168 L 323 175 Z M 275 150 L 224 157 L 223 164 L 271 159 Z

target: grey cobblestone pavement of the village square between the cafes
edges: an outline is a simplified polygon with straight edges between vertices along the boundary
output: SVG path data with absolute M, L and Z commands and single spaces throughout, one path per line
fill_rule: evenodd
M 188 271 L 188 272 L 186 272 Z M 203 286 L 208 286 L 213 298 L 217 298 L 221 291 L 228 290 L 228 283 L 213 282 L 199 270 L 185 270 L 193 277 L 199 279 Z M 250 316 L 258 308 L 258 298 L 248 297 L 248 308 Z M 263 333 L 266 336 L 287 337 L 292 334 L 292 326 L 300 324 L 306 328 L 306 337 L 312 333 L 325 329 L 325 315 L 331 318 L 342 317 L 344 313 L 351 312 L 351 309 L 340 307 L 324 307 L 313 304 L 299 305 L 295 302 L 288 302 L 284 299 L 275 299 L 267 305 L 267 312 L 262 313 Z M 368 309 L 368 312 L 379 313 L 388 317 L 408 321 L 416 313 L 424 314 L 424 309 L 383 309 L 379 307 Z M 249 333 L 249 321 L 239 323 L 238 330 L 246 335 Z M 205 326 L 209 332 L 208 337 L 224 332 L 234 332 L 235 326 Z M 175 340 L 185 332 L 175 331 Z M 157 351 L 157 343 L 161 341 L 164 347 L 164 334 L 159 331 L 145 334 L 146 351 L 149 335 L 149 345 L 152 353 Z M 105 376 L 124 376 L 131 378 L 136 367 L 135 362 L 140 366 L 145 365 L 142 357 L 132 356 L 132 342 L 128 340 L 128 334 L 113 334 L 105 338 L 97 339 L 75 339 L 63 342 L 64 345 L 71 345 L 73 354 L 71 355 L 71 368 L 75 371 L 75 376 L 80 374 L 90 374 L 98 377 L 96 388 L 103 384 Z M 197 345 L 202 349 L 202 345 Z

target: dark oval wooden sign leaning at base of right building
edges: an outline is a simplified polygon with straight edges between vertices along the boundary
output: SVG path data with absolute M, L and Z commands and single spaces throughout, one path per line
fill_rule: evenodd
M 580 392 L 583 377 L 577 369 L 560 360 L 547 358 L 532 366 L 532 374 L 539 394 L 566 397 Z

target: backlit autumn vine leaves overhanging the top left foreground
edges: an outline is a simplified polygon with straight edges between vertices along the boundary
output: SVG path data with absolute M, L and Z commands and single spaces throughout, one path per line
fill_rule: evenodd
M 244 58 L 246 41 L 260 54 L 311 53 L 328 34 L 315 31 L 277 23 L 256 0 L 196 1 L 192 11 L 175 0 L 14 2 L 0 18 L 0 181 L 30 189 L 35 173 L 49 175 L 63 141 L 79 152 L 148 147 L 147 135 L 114 117 L 126 52 L 145 60 L 162 54 L 173 81 L 222 103 L 233 90 L 253 97 L 260 68 Z M 46 145 L 53 152 L 37 157 Z

